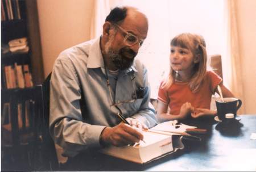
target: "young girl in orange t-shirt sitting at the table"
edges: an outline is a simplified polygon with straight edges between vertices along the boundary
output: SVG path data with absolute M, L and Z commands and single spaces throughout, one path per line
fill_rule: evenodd
M 207 52 L 203 37 L 181 33 L 171 40 L 171 69 L 158 91 L 159 122 L 216 115 L 210 110 L 210 100 L 219 85 L 223 97 L 234 95 L 214 72 L 207 71 Z M 217 91 L 218 93 L 218 91 Z M 170 112 L 167 111 L 170 107 Z

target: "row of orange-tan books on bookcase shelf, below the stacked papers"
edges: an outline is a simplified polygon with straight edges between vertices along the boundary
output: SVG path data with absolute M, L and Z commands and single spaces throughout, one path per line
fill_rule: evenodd
M 29 67 L 25 65 L 6 65 L 3 66 L 3 85 L 5 89 L 24 89 L 25 87 L 32 87 L 32 75 Z

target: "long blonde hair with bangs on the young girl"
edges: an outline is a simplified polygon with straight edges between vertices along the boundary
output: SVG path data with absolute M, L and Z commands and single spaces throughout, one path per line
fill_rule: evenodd
M 203 82 L 207 69 L 207 52 L 204 38 L 192 33 L 181 33 L 171 40 L 171 46 L 189 49 L 194 58 L 196 55 L 200 55 L 199 62 L 195 64 L 192 78 L 189 81 L 189 87 L 195 93 Z M 177 73 L 170 67 L 170 73 L 163 83 L 163 87 L 168 89 L 175 82 L 176 76 Z

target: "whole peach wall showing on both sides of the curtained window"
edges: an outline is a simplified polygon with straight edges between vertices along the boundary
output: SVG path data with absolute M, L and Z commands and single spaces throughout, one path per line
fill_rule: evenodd
M 89 40 L 94 0 L 38 0 L 45 75 L 65 48 Z M 256 114 L 256 1 L 237 0 L 246 114 Z

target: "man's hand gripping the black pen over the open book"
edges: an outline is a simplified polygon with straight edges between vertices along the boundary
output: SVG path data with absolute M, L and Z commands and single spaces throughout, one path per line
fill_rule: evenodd
M 114 146 L 129 145 L 143 140 L 143 135 L 139 129 L 124 123 L 112 128 L 106 127 L 101 136 L 101 141 L 105 145 L 111 144 Z

